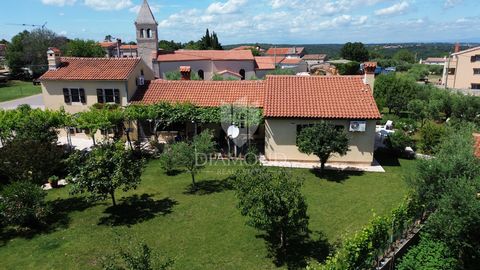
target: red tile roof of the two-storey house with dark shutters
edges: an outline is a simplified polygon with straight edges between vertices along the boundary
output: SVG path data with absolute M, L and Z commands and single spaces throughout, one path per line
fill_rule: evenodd
M 56 70 L 49 70 L 40 80 L 127 80 L 141 58 L 62 57 Z

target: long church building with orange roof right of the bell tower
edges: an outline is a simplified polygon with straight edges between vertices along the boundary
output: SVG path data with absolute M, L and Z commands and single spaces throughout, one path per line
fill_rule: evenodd
M 255 58 L 250 50 L 178 50 L 159 54 L 153 62 L 158 78 L 165 78 L 168 72 L 178 71 L 181 66 L 190 66 L 204 80 L 220 73 L 239 74 L 240 79 L 255 76 Z

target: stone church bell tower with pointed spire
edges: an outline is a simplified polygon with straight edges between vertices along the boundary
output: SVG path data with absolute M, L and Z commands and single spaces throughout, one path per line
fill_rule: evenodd
M 144 0 L 140 7 L 135 28 L 137 30 L 138 54 L 153 69 L 152 60 L 156 58 L 158 53 L 158 23 L 153 17 L 147 0 Z

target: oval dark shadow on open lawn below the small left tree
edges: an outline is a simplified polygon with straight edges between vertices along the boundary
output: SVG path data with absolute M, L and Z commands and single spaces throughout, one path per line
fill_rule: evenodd
M 99 225 L 109 226 L 131 226 L 143 221 L 152 219 L 158 215 L 172 213 L 172 208 L 177 201 L 170 198 L 154 200 L 151 194 L 133 195 L 121 200 L 117 206 L 110 206 L 105 209 L 104 216 L 100 219 Z

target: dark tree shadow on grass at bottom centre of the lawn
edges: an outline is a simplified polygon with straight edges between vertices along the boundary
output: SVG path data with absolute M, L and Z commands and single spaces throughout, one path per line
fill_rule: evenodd
M 309 259 L 322 262 L 332 249 L 322 232 L 290 239 L 285 250 L 279 248 L 278 236 L 264 234 L 257 237 L 266 241 L 268 256 L 273 259 L 275 266 L 287 266 L 288 269 L 304 269 Z

